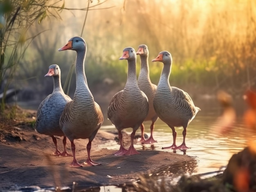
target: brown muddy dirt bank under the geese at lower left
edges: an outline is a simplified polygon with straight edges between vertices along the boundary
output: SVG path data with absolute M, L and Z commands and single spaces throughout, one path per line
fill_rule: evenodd
M 116 140 L 117 133 L 99 130 L 92 142 L 91 157 L 100 166 L 70 168 L 67 165 L 73 157 L 55 157 L 54 143 L 47 135 L 40 135 L 33 129 L 36 111 L 17 109 L 21 117 L 8 120 L 0 117 L 0 191 L 22 186 L 39 187 L 118 185 L 135 181 L 139 175 L 158 170 L 166 165 L 184 161 L 195 161 L 187 155 L 172 151 L 139 150 L 141 154 L 115 156 L 114 150 L 102 148 L 103 143 Z M 127 139 L 130 145 L 128 135 Z M 57 137 L 59 149 L 63 149 L 62 137 Z M 88 139 L 77 139 L 76 158 L 79 163 L 87 159 Z M 119 145 L 116 143 L 116 145 Z M 67 141 L 70 154 L 70 142 Z

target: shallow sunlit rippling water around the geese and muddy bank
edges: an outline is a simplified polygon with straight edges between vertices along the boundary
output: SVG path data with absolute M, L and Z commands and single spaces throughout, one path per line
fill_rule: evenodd
M 222 166 L 227 166 L 230 157 L 243 150 L 247 146 L 247 132 L 245 126 L 243 125 L 242 115 L 246 108 L 244 101 L 234 102 L 236 104 L 235 108 L 240 114 L 231 132 L 222 136 L 217 134 L 213 127 L 216 126 L 215 122 L 218 116 L 221 114 L 221 108 L 217 102 L 214 101 L 204 101 L 200 102 L 200 105 L 195 102 L 196 106 L 199 106 L 202 110 L 198 112 L 195 119 L 189 124 L 186 134 L 186 145 L 191 149 L 182 152 L 177 150 L 177 154 L 189 155 L 195 157 L 195 161 L 177 163 L 172 166 L 166 165 L 165 168 L 161 170 L 156 170 L 153 175 L 165 175 L 168 177 L 169 174 L 175 174 L 178 171 L 186 172 L 188 174 L 201 174 L 206 172 L 213 172 L 220 170 Z M 107 115 L 104 114 L 104 117 Z M 150 121 L 144 123 L 145 132 L 150 135 Z M 177 145 L 182 143 L 182 131 L 183 128 L 175 128 L 177 131 Z M 115 130 L 115 127 L 111 125 L 111 122 L 105 118 L 104 124 L 101 130 Z M 132 132 L 132 129 L 126 129 L 127 132 Z M 140 129 L 137 130 L 136 135 L 141 133 Z M 154 138 L 157 143 L 153 145 L 140 143 L 135 143 L 135 148 L 137 150 L 162 150 L 162 147 L 170 146 L 173 143 L 173 136 L 171 128 L 169 128 L 160 119 L 157 120 L 154 130 Z M 256 135 L 251 135 L 253 140 L 256 140 Z M 108 142 L 101 148 L 108 148 L 112 150 L 118 150 L 119 145 L 116 141 Z M 173 152 L 173 150 L 162 150 Z M 84 190 L 87 191 L 87 190 Z M 121 192 L 121 188 L 115 186 L 105 186 L 90 191 L 98 192 Z

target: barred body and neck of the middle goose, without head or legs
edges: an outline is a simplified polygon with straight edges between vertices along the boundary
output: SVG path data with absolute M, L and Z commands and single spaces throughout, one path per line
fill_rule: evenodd
M 137 130 L 148 115 L 148 98 L 137 84 L 136 57 L 128 60 L 127 82 L 124 90 L 116 93 L 108 106 L 108 119 L 117 130 Z

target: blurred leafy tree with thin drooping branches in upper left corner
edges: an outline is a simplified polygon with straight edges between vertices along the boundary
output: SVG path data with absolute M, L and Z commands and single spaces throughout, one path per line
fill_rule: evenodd
M 89 11 L 88 7 L 76 10 Z M 100 5 L 106 1 L 97 1 Z M 96 6 L 97 6 L 96 5 Z M 92 6 L 95 9 L 95 5 Z M 66 10 L 74 10 L 65 7 L 65 0 L 0 0 L 0 113 L 4 111 L 9 84 L 14 79 L 16 65 L 24 57 L 29 44 L 41 32 L 27 37 L 27 31 L 45 18 L 61 19 L 59 13 Z M 84 26 L 83 26 L 84 27 Z

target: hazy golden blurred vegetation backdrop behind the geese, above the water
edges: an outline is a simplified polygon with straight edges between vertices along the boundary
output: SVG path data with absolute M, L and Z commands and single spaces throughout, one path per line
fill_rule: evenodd
M 52 93 L 52 78 L 44 77 L 51 64 L 60 66 L 64 91 L 73 97 L 76 53 L 58 52 L 73 36 L 87 42 L 89 88 L 106 107 L 126 83 L 127 64 L 118 58 L 127 46 L 135 50 L 139 44 L 148 46 L 154 84 L 162 63 L 151 60 L 160 51 L 169 51 L 170 84 L 192 99 L 215 98 L 220 89 L 241 98 L 256 81 L 253 0 L 4 0 L 2 5 L 1 47 L 7 47 L 0 68 L 1 91 L 7 85 L 20 89 L 15 100 L 26 108 L 37 109 Z M 31 20 L 25 18 L 29 14 Z M 12 31 L 3 32 L 7 25 Z M 137 57 L 137 74 L 139 68 Z

